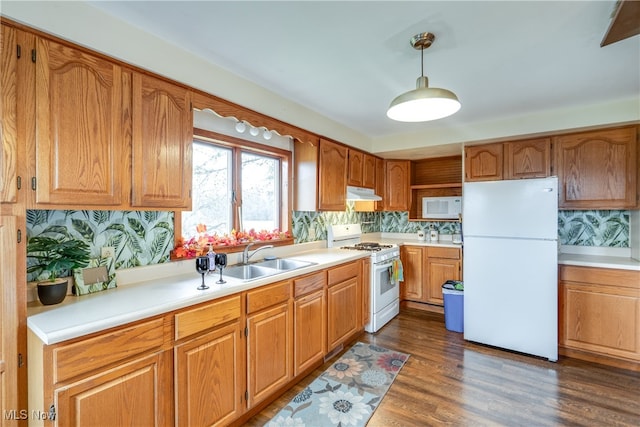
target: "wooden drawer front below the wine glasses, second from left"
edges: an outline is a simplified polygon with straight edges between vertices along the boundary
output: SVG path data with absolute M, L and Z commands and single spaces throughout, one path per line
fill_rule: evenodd
M 240 295 L 208 303 L 175 316 L 176 341 L 240 317 Z

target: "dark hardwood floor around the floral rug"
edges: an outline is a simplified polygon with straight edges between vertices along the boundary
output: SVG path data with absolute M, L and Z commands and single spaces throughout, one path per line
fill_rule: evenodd
M 473 344 L 447 331 L 442 314 L 413 309 L 360 341 L 411 354 L 369 427 L 640 426 L 638 372 L 564 357 L 552 363 Z M 246 425 L 264 425 L 330 364 Z

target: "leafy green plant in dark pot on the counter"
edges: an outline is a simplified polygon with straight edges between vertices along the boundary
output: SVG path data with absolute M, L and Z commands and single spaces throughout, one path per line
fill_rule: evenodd
M 90 248 L 82 240 L 66 236 L 35 236 L 27 243 L 27 273 L 36 273 L 38 298 L 44 305 L 58 304 L 67 295 L 68 283 L 59 276 L 89 264 Z

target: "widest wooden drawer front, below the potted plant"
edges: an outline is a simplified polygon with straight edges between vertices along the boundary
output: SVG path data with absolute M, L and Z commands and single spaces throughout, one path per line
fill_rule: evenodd
M 164 318 L 108 332 L 52 351 L 55 383 L 162 347 Z

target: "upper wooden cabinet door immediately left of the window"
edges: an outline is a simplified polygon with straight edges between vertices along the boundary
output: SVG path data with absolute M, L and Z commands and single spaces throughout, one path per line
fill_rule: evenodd
M 191 93 L 133 75 L 132 206 L 191 209 Z

